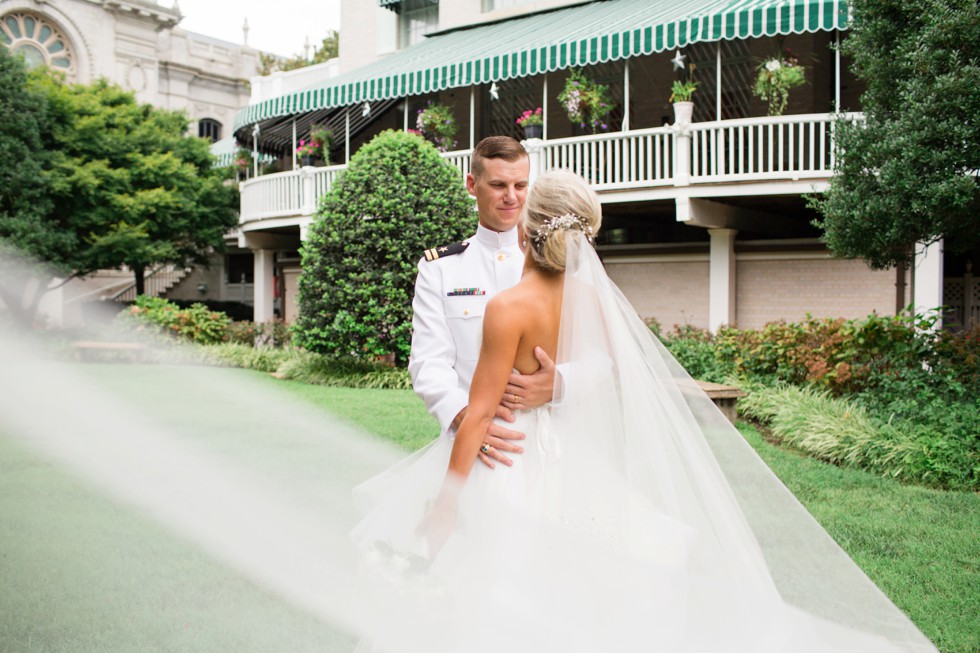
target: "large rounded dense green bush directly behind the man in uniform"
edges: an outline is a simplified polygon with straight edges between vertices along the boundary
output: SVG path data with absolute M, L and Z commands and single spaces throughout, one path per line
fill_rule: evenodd
M 416 264 L 476 226 L 459 171 L 420 136 L 385 131 L 351 157 L 303 244 L 298 344 L 408 360 Z

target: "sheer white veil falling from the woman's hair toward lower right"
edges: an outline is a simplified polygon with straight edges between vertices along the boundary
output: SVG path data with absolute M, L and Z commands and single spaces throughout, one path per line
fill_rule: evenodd
M 695 613 L 709 600 L 731 614 L 748 598 L 754 605 L 738 618 L 752 620 L 766 611 L 760 603 L 778 610 L 784 602 L 812 615 L 837 650 L 935 651 L 651 333 L 587 240 L 569 236 L 558 347 L 567 373 L 551 411 L 562 447 L 560 510 L 614 515 L 647 551 L 672 546 L 650 514 L 686 525 L 690 591 L 706 590 Z M 603 466 L 625 489 L 619 480 L 604 485 L 608 493 L 576 480 Z

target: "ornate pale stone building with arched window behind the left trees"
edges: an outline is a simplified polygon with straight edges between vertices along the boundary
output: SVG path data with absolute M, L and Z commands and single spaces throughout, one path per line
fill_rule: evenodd
M 179 9 L 153 0 L 0 0 L 0 44 L 68 81 L 108 79 L 140 102 L 185 112 L 192 134 L 228 139 L 236 112 L 248 104 L 259 53 L 183 30 L 180 20 Z M 232 253 L 211 269 L 162 269 L 148 284 L 171 297 L 251 303 L 251 256 L 244 255 L 246 275 Z M 125 271 L 73 280 L 50 292 L 43 310 L 56 323 L 77 324 L 83 304 L 132 294 L 130 285 Z

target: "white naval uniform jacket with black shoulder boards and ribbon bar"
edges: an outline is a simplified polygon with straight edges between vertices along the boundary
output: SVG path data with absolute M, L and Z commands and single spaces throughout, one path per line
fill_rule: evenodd
M 487 302 L 514 286 L 524 267 L 516 227 L 498 233 L 480 226 L 466 242 L 460 254 L 419 262 L 412 301 L 408 371 L 444 434 L 469 404 Z

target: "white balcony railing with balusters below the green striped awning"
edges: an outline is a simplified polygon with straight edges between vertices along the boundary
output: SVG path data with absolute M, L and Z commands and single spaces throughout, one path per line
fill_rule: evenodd
M 577 172 L 600 193 L 827 179 L 834 168 L 835 120 L 832 114 L 746 118 L 541 141 L 531 148 L 532 165 Z M 443 157 L 466 177 L 469 150 Z M 345 167 L 306 167 L 242 182 L 240 223 L 313 215 Z

